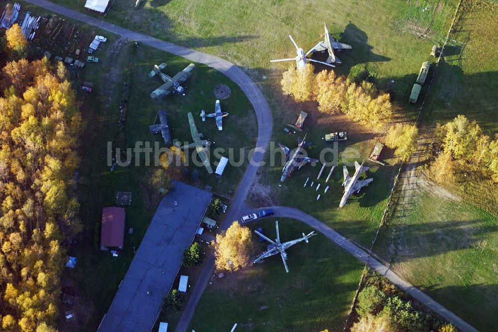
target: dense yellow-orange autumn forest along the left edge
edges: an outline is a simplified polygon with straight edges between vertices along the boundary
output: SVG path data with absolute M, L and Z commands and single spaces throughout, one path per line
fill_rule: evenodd
M 72 190 L 82 119 L 64 65 L 11 61 L 0 86 L 2 331 L 55 331 L 64 245 L 82 229 Z

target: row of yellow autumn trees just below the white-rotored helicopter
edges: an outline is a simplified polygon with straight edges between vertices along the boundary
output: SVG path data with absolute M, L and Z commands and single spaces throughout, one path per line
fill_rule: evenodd
M 367 81 L 356 83 L 344 76 L 336 77 L 332 70 L 315 74 L 309 63 L 303 71 L 290 67 L 283 73 L 280 83 L 282 91 L 296 101 L 316 101 L 320 112 L 343 112 L 377 130 L 392 118 L 389 94 L 378 91 L 373 83 Z

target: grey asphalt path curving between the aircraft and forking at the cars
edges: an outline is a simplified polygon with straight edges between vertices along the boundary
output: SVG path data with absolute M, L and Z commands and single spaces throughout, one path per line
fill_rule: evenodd
M 163 41 L 157 38 L 153 38 L 151 36 L 138 33 L 135 31 L 131 31 L 125 29 L 121 26 L 117 26 L 115 24 L 82 14 L 78 11 L 66 8 L 64 6 L 58 5 L 56 3 L 47 1 L 47 0 L 24 0 L 26 2 L 38 5 L 45 9 L 48 9 L 53 12 L 57 12 L 61 15 L 71 17 L 73 19 L 82 21 L 84 23 L 93 25 L 100 29 L 109 31 L 111 33 L 124 36 L 131 40 L 135 40 L 151 47 L 187 58 L 194 62 L 203 63 L 207 66 L 210 66 L 225 76 L 230 78 L 233 82 L 235 82 L 242 89 L 244 94 L 248 97 L 252 107 L 254 108 L 254 112 L 256 113 L 257 118 L 257 141 L 256 148 L 254 149 L 253 157 L 251 163 L 249 163 L 244 176 L 242 177 L 242 181 L 239 183 L 237 188 L 237 192 L 232 200 L 232 204 L 230 209 L 227 212 L 227 216 L 225 218 L 225 222 L 222 224 L 222 230 L 226 230 L 232 220 L 238 220 L 239 217 L 243 214 L 244 211 L 247 211 L 248 208 L 244 204 L 244 200 L 249 192 L 250 186 L 254 180 L 254 176 L 256 175 L 257 168 L 259 167 L 259 163 L 263 161 L 264 153 L 266 147 L 269 144 L 271 132 L 273 129 L 273 120 L 271 117 L 270 108 L 263 94 L 257 87 L 257 85 L 249 78 L 249 76 L 239 67 L 234 65 L 233 63 L 226 61 L 222 58 L 219 58 L 214 55 L 206 54 L 203 52 L 195 51 L 190 48 L 186 48 L 183 46 L 178 46 L 173 43 Z M 398 277 L 394 272 L 389 270 L 386 266 L 378 262 L 376 259 L 371 257 L 367 252 L 347 240 L 345 237 L 337 233 L 334 229 L 325 225 L 320 220 L 306 214 L 300 210 L 284 207 L 284 206 L 274 206 L 271 207 L 275 211 L 275 216 L 279 217 L 287 217 L 300 220 L 317 231 L 321 232 L 330 240 L 334 241 L 335 244 L 342 247 L 344 250 L 349 252 L 351 255 L 355 256 L 357 259 L 361 260 L 365 264 L 367 264 L 370 268 L 375 270 L 378 274 L 387 278 L 390 282 L 392 282 L 396 287 L 404 290 L 408 294 L 410 294 L 413 298 L 417 299 L 419 302 L 423 303 L 425 306 L 438 313 L 449 322 L 454 324 L 456 327 L 461 329 L 462 331 L 477 331 L 471 325 L 463 321 L 461 318 L 453 314 L 451 311 L 444 308 L 442 305 L 431 299 L 429 296 L 424 294 L 422 291 L 412 286 L 408 282 L 404 281 L 400 277 Z M 261 210 L 264 208 L 260 208 Z M 202 293 L 206 288 L 206 285 L 209 281 L 211 273 L 214 270 L 214 256 L 210 255 L 199 275 L 196 285 L 190 294 L 190 299 L 187 305 L 184 308 L 182 317 L 178 326 L 176 328 L 177 332 L 187 331 L 190 321 L 194 315 L 195 308 L 199 303 Z

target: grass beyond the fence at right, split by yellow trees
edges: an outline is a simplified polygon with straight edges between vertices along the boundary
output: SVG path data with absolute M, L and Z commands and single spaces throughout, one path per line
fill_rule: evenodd
M 498 55 L 490 51 L 497 40 L 497 13 L 496 4 L 462 2 L 449 52 L 424 109 L 424 126 L 464 114 L 486 134 L 497 132 Z M 496 184 L 468 175 L 467 181 L 456 185 L 457 192 L 465 191 L 459 193 L 460 199 L 435 185 L 402 192 L 411 197 L 398 202 L 395 217 L 380 232 L 373 251 L 401 277 L 480 331 L 495 331 L 498 193 Z

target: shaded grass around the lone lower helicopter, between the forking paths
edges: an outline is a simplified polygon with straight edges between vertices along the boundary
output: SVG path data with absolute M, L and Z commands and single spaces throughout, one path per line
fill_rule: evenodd
M 280 239 L 292 240 L 312 229 L 292 219 L 279 219 Z M 251 224 L 275 237 L 274 219 Z M 255 252 L 267 242 L 253 234 Z M 287 250 L 289 273 L 279 256 L 247 270 L 213 278 L 197 307 L 195 331 L 329 331 L 342 330 L 358 287 L 363 264 L 318 233 L 308 244 Z M 318 314 L 320 313 L 320 314 Z

